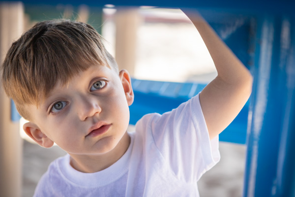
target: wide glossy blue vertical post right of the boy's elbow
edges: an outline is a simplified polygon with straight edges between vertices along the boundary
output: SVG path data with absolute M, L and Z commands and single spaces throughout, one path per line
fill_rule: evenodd
M 257 19 L 244 197 L 295 196 L 294 19 Z

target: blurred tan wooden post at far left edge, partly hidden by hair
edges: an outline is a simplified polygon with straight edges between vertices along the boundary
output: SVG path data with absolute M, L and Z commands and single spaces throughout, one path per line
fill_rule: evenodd
M 13 40 L 23 33 L 24 8 L 21 2 L 0 3 L 0 64 Z M 21 197 L 22 139 L 19 122 L 10 120 L 10 99 L 0 84 L 0 193 Z

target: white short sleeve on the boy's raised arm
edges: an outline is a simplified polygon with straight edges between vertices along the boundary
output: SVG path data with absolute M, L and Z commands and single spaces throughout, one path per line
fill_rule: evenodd
M 218 136 L 209 139 L 199 95 L 163 115 L 145 118 L 155 146 L 177 178 L 196 182 L 219 161 Z

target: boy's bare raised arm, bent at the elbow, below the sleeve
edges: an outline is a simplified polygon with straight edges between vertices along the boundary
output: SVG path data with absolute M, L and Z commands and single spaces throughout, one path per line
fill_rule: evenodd
M 201 92 L 200 103 L 210 139 L 237 116 L 252 91 L 252 76 L 197 12 L 182 10 L 201 34 L 217 69 L 217 77 Z

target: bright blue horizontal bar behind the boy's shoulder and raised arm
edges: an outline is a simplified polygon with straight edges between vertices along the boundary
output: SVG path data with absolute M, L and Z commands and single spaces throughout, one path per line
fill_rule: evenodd
M 129 107 L 130 124 L 135 125 L 145 114 L 162 114 L 177 108 L 179 104 L 201 92 L 206 85 L 132 79 L 135 99 Z M 236 119 L 219 135 L 220 141 L 246 143 L 248 106 L 247 103 Z

